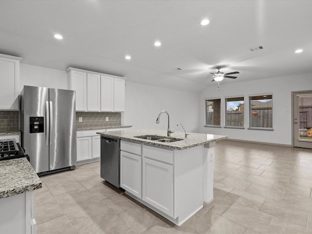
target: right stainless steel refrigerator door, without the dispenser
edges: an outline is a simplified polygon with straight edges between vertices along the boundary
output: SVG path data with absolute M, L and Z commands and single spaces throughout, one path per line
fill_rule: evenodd
M 76 165 L 75 91 L 50 89 L 50 171 Z

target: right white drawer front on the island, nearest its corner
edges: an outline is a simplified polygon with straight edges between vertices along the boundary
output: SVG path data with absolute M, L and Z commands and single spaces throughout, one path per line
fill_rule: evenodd
M 153 146 L 143 145 L 143 156 L 170 164 L 174 163 L 173 150 L 165 150 Z

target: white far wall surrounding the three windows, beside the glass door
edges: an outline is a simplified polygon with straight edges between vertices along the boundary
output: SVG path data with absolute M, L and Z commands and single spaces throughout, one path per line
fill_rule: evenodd
M 274 144 L 292 144 L 292 91 L 312 90 L 312 73 L 268 78 L 247 82 L 222 84 L 220 91 L 216 86 L 209 87 L 200 94 L 201 133 L 228 135 L 229 138 L 249 141 L 260 141 Z M 249 98 L 248 95 L 273 93 L 273 130 L 248 130 Z M 221 125 L 225 125 L 226 97 L 245 97 L 245 129 L 204 127 L 205 98 L 221 98 Z

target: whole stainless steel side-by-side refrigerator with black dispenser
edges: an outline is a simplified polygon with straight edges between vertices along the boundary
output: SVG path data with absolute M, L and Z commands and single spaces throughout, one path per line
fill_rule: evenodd
M 20 93 L 21 145 L 38 174 L 76 165 L 75 91 L 24 86 Z

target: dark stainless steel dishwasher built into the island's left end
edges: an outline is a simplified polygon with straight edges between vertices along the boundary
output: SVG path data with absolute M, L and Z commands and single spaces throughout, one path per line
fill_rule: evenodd
M 101 136 L 101 178 L 120 187 L 120 139 Z

